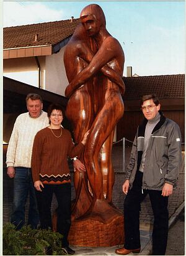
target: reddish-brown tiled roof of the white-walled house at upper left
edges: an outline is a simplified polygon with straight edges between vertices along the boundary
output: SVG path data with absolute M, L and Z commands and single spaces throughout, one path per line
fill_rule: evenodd
M 72 36 L 80 20 L 45 22 L 3 29 L 3 49 L 55 45 Z M 38 40 L 35 42 L 35 34 Z

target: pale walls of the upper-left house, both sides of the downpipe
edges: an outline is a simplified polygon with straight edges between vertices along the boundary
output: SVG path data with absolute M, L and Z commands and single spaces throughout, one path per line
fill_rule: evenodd
M 64 96 L 68 79 L 64 69 L 63 47 L 57 54 L 39 56 L 41 87 Z M 38 87 L 38 66 L 35 57 L 4 59 L 3 75 L 14 80 Z

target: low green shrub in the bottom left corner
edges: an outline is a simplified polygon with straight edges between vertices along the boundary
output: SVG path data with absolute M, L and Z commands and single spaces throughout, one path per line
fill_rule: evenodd
M 30 226 L 16 230 L 15 225 L 7 223 L 2 230 L 3 255 L 64 255 L 62 238 L 63 235 L 52 230 Z

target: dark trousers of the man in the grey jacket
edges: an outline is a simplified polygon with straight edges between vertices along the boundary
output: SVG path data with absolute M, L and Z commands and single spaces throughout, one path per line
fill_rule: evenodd
M 133 187 L 128 191 L 124 202 L 125 249 L 138 249 L 139 211 L 141 202 L 149 194 L 154 214 L 153 255 L 165 255 L 169 229 L 168 197 L 161 196 L 162 191 L 141 189 L 143 173 L 137 171 Z

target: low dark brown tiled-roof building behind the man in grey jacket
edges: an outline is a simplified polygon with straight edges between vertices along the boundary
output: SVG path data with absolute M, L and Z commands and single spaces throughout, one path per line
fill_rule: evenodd
M 140 110 L 142 95 L 155 93 L 161 102 L 161 110 L 167 118 L 179 124 L 182 141 L 185 141 L 185 75 L 151 75 L 123 77 L 125 82 L 125 113 L 117 125 L 117 140 L 133 141 L 136 129 L 143 120 Z

